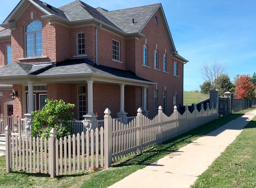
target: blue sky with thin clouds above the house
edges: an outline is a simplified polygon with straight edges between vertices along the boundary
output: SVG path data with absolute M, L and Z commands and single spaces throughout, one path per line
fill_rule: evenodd
M 0 0 L 0 23 L 19 0 Z M 60 7 L 72 0 L 43 0 Z M 184 90 L 199 89 L 200 67 L 218 61 L 233 80 L 237 74 L 256 72 L 255 0 L 83 0 L 92 7 L 124 9 L 161 2 L 184 66 Z

